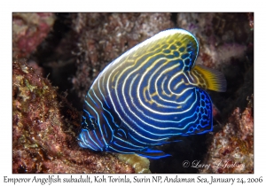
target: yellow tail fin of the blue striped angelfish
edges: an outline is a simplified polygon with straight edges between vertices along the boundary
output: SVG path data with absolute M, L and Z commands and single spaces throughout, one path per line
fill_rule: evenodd
M 192 72 L 199 78 L 199 86 L 204 84 L 205 86 L 203 87 L 206 87 L 206 89 L 211 89 L 218 92 L 226 91 L 227 85 L 223 73 L 201 65 L 193 66 Z

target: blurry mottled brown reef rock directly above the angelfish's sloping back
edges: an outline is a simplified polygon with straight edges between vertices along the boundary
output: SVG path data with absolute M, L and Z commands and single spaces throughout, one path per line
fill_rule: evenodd
M 170 13 L 78 13 L 74 16 L 79 58 L 72 82 L 80 105 L 92 81 L 113 59 L 161 30 L 174 27 Z

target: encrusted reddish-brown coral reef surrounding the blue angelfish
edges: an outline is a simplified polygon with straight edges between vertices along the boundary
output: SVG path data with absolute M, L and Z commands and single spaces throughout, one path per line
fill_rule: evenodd
M 182 167 L 183 161 L 213 163 L 217 156 L 246 167 L 200 173 L 253 173 L 253 105 L 246 106 L 246 97 L 254 94 L 254 14 L 106 12 L 13 13 L 13 173 L 148 173 L 147 159 L 80 148 L 75 137 L 81 113 L 75 109 L 82 111 L 91 83 L 113 59 L 172 27 L 196 35 L 197 63 L 222 71 L 228 89 L 208 92 L 215 105 L 214 132 L 161 146 L 172 157 L 150 160 L 151 172 L 199 173 Z M 28 60 L 21 64 L 20 58 Z

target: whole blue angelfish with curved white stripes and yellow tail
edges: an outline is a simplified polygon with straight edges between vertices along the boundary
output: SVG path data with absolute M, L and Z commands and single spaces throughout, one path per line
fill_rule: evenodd
M 160 159 L 155 148 L 173 136 L 212 131 L 205 89 L 225 91 L 223 74 L 195 65 L 197 39 L 184 29 L 162 31 L 115 59 L 85 99 L 81 147 Z

